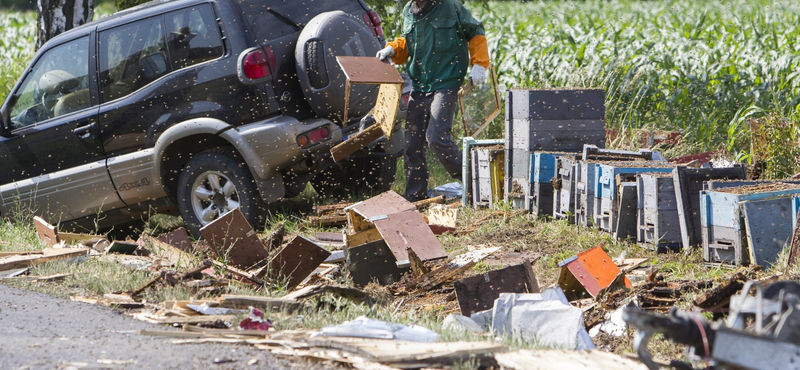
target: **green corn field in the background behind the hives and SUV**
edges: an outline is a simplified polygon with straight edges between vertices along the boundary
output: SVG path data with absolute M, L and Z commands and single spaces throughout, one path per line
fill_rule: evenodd
M 397 27 L 395 0 L 367 1 Z M 800 3 L 793 1 L 470 1 L 505 88 L 596 87 L 618 132 L 682 130 L 691 151 L 751 161 L 749 122 L 771 133 L 768 175 L 797 169 Z M 0 13 L 0 99 L 33 55 L 32 13 Z M 774 126 L 774 127 L 773 127 Z M 502 116 L 488 130 L 502 131 Z M 780 133 L 784 137 L 774 137 Z M 787 144 L 789 143 L 789 144 Z M 787 148 L 787 145 L 790 148 Z M 774 146 L 774 147 L 773 147 Z M 787 157 L 788 156 L 788 157 Z

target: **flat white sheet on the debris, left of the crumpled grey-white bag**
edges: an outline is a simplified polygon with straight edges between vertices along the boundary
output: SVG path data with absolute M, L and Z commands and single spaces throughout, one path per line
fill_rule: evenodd
M 388 323 L 365 316 L 359 316 L 339 325 L 326 326 L 312 336 L 396 339 L 411 342 L 439 341 L 439 334 L 430 329 L 418 325 Z

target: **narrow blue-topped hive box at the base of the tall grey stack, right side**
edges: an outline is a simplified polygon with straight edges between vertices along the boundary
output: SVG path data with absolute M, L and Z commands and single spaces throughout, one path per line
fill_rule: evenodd
M 536 216 L 553 215 L 553 178 L 556 174 L 556 160 L 568 153 L 534 152 L 531 155 L 531 213 Z

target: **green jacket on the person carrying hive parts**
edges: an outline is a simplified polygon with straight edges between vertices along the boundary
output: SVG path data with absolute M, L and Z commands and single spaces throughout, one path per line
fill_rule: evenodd
M 428 0 L 417 14 L 411 14 L 412 2 L 403 9 L 402 36 L 414 90 L 461 86 L 469 67 L 468 43 L 485 34 L 483 24 L 458 0 Z

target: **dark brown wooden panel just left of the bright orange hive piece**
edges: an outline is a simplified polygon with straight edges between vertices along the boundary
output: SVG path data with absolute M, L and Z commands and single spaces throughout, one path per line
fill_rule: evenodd
M 539 283 L 529 260 L 455 281 L 453 287 L 461 314 L 467 317 L 494 307 L 494 300 L 500 293 L 539 293 Z

